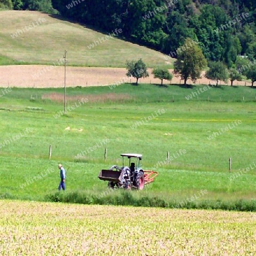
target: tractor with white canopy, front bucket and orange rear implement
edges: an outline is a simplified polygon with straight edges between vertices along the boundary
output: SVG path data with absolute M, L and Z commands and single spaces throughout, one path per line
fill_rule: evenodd
M 98 178 L 108 181 L 109 188 L 139 189 L 142 190 L 144 185 L 154 181 L 158 175 L 155 171 L 144 171 L 141 168 L 141 154 L 121 154 L 123 166 L 112 166 L 109 170 L 101 170 Z M 124 158 L 129 159 L 128 166 L 125 166 Z M 132 162 L 132 159 L 135 159 Z

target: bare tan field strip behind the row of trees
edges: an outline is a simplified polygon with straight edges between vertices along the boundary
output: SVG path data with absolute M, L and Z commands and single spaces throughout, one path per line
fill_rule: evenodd
M 141 83 L 160 84 L 159 79 L 154 79 L 151 75 L 152 69 L 148 69 L 149 77 L 139 79 Z M 97 86 L 110 85 L 115 82 L 135 82 L 135 79 L 127 77 L 125 68 L 66 68 L 66 86 Z M 170 84 L 170 81 L 164 81 Z M 182 84 L 179 77 L 172 79 L 172 84 Z M 197 80 L 197 84 L 214 84 L 202 77 Z M 192 81 L 188 81 L 192 84 Z M 228 83 L 230 85 L 230 81 Z M 224 85 L 221 82 L 221 85 Z M 245 85 L 245 82 L 234 82 L 234 85 Z M 246 82 L 249 85 L 249 82 Z M 1 87 L 22 87 L 22 88 L 48 88 L 64 86 L 64 67 L 47 65 L 10 65 L 0 66 L 0 86 Z

